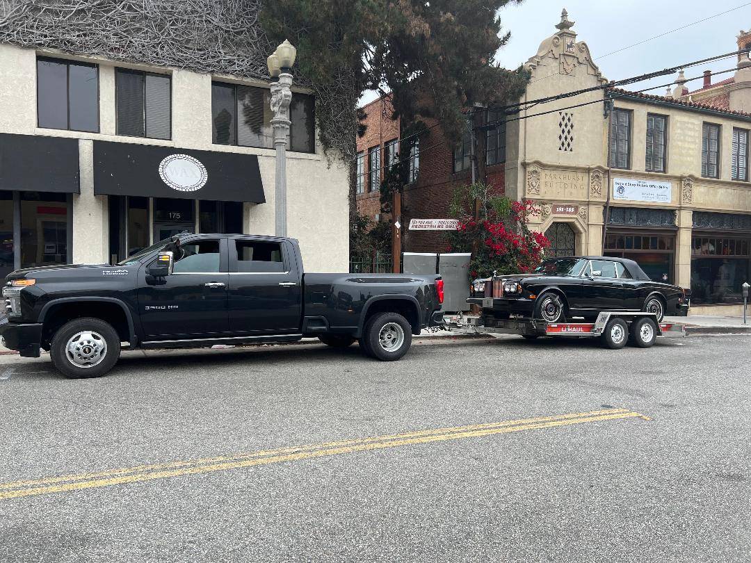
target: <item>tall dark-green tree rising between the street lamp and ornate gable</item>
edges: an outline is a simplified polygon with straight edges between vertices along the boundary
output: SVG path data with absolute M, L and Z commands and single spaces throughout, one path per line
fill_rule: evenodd
M 452 141 L 460 138 L 467 107 L 522 95 L 526 71 L 493 63 L 510 37 L 497 17 L 509 2 L 519 0 L 264 2 L 261 26 L 270 41 L 288 38 L 297 47 L 298 74 L 316 95 L 324 149 L 336 149 L 350 166 L 352 213 L 363 92 L 392 92 L 394 117 L 439 119 Z

